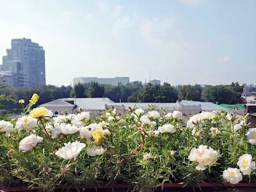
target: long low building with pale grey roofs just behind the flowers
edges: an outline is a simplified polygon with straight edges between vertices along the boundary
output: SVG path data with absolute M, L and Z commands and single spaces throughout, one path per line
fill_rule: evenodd
M 176 110 L 181 111 L 184 116 L 193 116 L 202 111 L 227 110 L 212 102 L 182 100 L 175 103 L 132 103 L 113 102 L 108 98 L 65 98 L 52 100 L 40 106 L 50 109 L 54 115 L 58 115 L 63 111 L 76 113 L 78 108 L 83 108 L 89 111 L 91 116 L 100 116 L 106 109 L 111 108 L 115 108 L 118 115 L 124 115 L 129 108 L 134 108 L 134 106 L 143 109 L 145 112 L 148 111 L 148 106 L 154 106 L 157 111 L 161 111 L 164 108 L 168 113 Z

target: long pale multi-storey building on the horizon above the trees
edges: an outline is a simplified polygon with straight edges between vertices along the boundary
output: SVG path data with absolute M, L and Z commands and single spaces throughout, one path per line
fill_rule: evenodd
M 112 85 L 118 85 L 118 84 L 128 84 L 130 82 L 129 77 L 114 77 L 114 78 L 98 78 L 98 77 L 75 77 L 73 79 L 73 83 L 78 84 L 84 84 L 84 83 L 92 83 L 96 82 L 99 84 L 112 84 Z

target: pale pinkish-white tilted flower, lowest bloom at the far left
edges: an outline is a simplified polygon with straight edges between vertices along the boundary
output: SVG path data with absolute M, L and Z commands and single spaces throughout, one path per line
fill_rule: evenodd
M 36 147 L 37 143 L 40 143 L 42 141 L 43 138 L 41 138 L 40 136 L 31 134 L 20 141 L 19 150 L 21 150 L 22 152 L 27 152 L 31 150 L 33 147 Z

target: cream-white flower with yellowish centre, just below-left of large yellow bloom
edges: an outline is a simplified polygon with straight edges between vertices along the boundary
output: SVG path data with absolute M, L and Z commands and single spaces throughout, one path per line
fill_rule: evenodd
M 32 116 L 22 116 L 16 122 L 17 129 L 31 131 L 37 125 L 37 119 Z

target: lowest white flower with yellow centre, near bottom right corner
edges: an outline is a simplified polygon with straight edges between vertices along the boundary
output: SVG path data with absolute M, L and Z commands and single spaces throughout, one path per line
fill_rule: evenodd
M 231 184 L 237 184 L 243 180 L 243 176 L 237 168 L 227 168 L 223 172 L 223 179 L 227 180 Z

